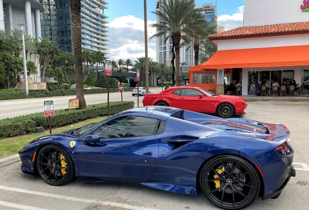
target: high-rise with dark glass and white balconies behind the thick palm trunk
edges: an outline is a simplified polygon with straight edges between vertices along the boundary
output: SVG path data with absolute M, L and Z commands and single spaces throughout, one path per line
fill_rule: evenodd
M 108 16 L 105 0 L 81 0 L 82 48 L 107 54 Z M 42 38 L 52 40 L 63 51 L 73 53 L 69 0 L 43 0 Z

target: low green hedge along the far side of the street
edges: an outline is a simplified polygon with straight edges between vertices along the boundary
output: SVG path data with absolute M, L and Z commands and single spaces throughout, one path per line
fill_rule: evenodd
M 133 88 L 123 88 L 123 89 L 124 91 L 131 91 Z M 16 91 L 16 90 L 8 92 L 1 91 L 0 100 L 76 95 L 75 89 L 53 90 L 53 91 L 48 91 L 47 89 L 29 90 L 29 95 L 26 95 L 23 89 L 21 90 L 22 91 Z M 118 88 L 109 88 L 109 92 L 118 92 Z M 85 94 L 107 93 L 107 89 L 106 88 L 84 89 L 84 93 Z

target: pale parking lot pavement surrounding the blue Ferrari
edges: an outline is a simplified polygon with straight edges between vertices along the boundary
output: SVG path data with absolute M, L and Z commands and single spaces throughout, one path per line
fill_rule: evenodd
M 277 199 L 257 198 L 248 210 L 307 210 L 309 206 L 309 103 L 291 101 L 248 102 L 248 118 L 282 123 L 291 131 L 296 177 Z M 2 210 L 215 210 L 204 195 L 192 196 L 128 184 L 73 181 L 62 187 L 46 184 L 39 177 L 18 174 L 20 162 L 0 170 Z

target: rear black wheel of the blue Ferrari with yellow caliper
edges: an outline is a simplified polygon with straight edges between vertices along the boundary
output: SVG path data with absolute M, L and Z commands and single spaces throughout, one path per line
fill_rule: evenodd
M 249 162 L 235 156 L 211 159 L 199 178 L 203 193 L 222 209 L 242 209 L 252 203 L 260 190 L 257 171 Z

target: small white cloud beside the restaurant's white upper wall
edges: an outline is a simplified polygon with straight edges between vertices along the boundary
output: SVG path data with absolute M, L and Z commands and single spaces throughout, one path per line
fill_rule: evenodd
M 225 30 L 234 29 L 243 26 L 244 6 L 238 7 L 238 11 L 232 16 L 221 15 L 218 17 L 218 25 L 223 26 Z

